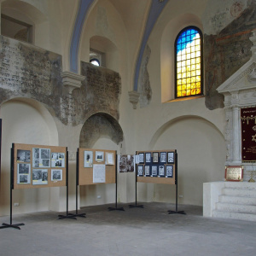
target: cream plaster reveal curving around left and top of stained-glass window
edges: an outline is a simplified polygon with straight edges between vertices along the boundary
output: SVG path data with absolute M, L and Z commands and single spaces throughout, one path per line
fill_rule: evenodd
M 161 102 L 175 98 L 174 89 L 174 44 L 177 34 L 186 26 L 197 26 L 203 32 L 200 18 L 193 14 L 183 14 L 170 20 L 163 30 L 160 40 Z

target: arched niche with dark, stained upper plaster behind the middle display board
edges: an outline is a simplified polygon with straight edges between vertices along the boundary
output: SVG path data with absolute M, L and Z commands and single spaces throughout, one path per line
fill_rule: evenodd
M 123 143 L 123 131 L 108 113 L 96 113 L 84 123 L 80 133 L 80 148 L 117 150 Z M 124 192 L 125 193 L 125 192 Z M 115 184 L 80 186 L 80 207 L 114 202 Z

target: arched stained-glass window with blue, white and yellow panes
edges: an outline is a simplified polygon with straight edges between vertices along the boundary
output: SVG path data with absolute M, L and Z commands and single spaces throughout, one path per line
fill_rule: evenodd
M 175 40 L 175 97 L 203 94 L 202 33 L 187 26 Z

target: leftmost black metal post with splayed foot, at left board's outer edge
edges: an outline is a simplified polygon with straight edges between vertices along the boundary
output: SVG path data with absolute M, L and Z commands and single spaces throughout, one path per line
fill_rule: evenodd
M 10 198 L 9 198 L 9 224 L 3 223 L 0 229 L 14 228 L 20 230 L 20 226 L 24 226 L 24 223 L 13 224 L 13 189 L 14 189 L 14 144 L 11 148 L 11 168 L 10 168 Z

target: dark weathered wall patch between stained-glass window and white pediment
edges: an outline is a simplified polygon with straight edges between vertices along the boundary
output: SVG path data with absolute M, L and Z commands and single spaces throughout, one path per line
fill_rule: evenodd
M 216 89 L 252 55 L 252 42 L 249 38 L 256 27 L 256 3 L 249 1 L 246 6 L 244 2 L 237 1 L 230 6 L 224 6 L 221 13 L 215 13 L 214 17 L 206 21 L 215 22 L 212 30 L 204 34 L 205 96 L 206 106 L 211 110 L 224 108 L 224 96 L 218 94 Z M 234 20 L 223 26 L 229 17 Z

